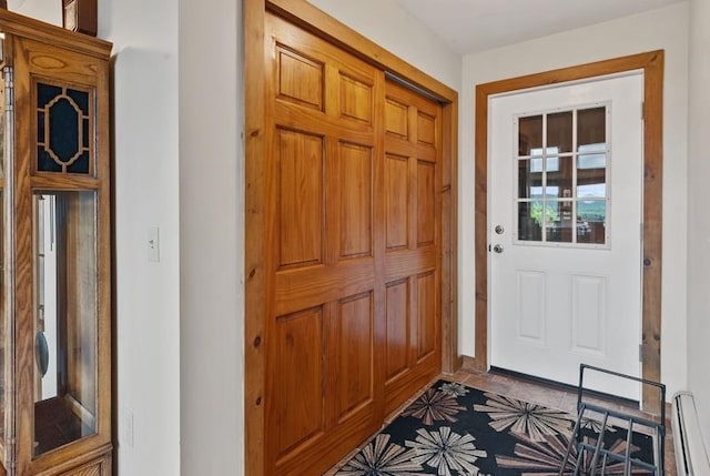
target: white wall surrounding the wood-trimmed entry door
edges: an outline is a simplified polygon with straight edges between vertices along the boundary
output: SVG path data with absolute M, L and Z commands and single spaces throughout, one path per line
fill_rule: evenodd
M 663 103 L 663 277 L 661 375 L 669 392 L 686 383 L 686 185 L 688 3 L 470 54 L 464 58 L 459 230 L 462 353 L 475 355 L 474 110 L 479 83 L 645 51 L 666 50 Z M 470 131 L 470 133 L 469 133 Z

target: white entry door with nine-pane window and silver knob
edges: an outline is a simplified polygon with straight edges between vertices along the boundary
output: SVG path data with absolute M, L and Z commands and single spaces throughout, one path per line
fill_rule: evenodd
M 491 366 L 640 376 L 641 102 L 641 73 L 490 100 Z M 639 399 L 630 382 L 585 382 Z

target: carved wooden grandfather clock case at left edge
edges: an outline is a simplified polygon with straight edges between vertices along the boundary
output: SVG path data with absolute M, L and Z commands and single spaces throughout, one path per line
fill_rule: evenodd
M 111 474 L 110 53 L 0 10 L 0 476 Z

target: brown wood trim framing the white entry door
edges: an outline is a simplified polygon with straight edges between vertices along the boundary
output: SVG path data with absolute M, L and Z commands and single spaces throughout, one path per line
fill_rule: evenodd
M 663 51 L 580 64 L 476 85 L 476 355 L 469 364 L 488 368 L 488 100 L 494 94 L 579 81 L 635 70 L 643 71 L 643 283 L 642 376 L 660 381 L 661 253 L 663 171 Z M 645 389 L 643 404 L 656 395 Z

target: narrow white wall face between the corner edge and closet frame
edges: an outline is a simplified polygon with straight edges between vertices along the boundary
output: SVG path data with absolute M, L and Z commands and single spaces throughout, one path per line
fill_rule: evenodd
M 243 473 L 242 1 L 180 0 L 184 476 Z M 165 473 L 161 473 L 165 474 Z

